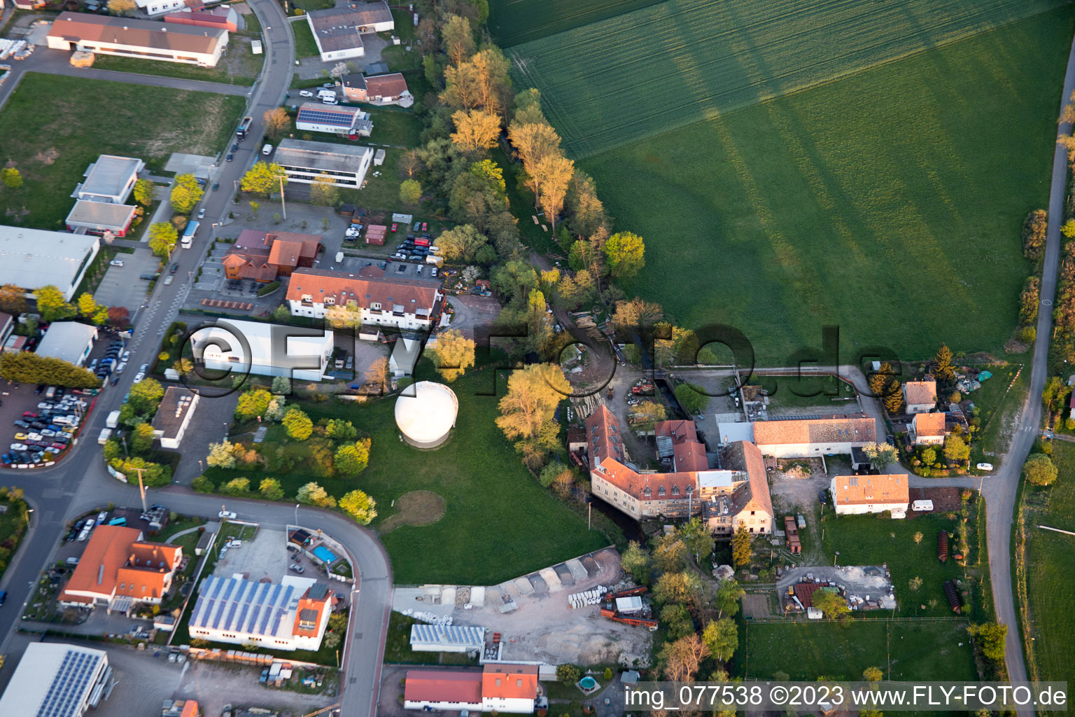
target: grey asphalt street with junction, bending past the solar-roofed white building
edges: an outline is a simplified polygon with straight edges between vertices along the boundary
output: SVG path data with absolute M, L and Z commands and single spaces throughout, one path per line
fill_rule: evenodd
M 261 23 L 266 46 L 264 67 L 258 82 L 250 89 L 246 109 L 246 114 L 254 118 L 249 132 L 252 139 L 240 145 L 235 161 L 224 163 L 213 177 L 214 182 L 219 182 L 220 189 L 206 192 L 199 205 L 205 207 L 202 224 L 206 229 L 199 232 L 200 236 L 196 239 L 192 248 L 176 249 L 171 259 L 180 264 L 176 276 L 187 276 L 188 281 L 175 282 L 171 286 L 158 283 L 138 316 L 134 335 L 128 343 L 132 365 L 148 363 L 156 355 L 160 338 L 174 320 L 189 292 L 190 276 L 197 271 L 200 259 L 213 239 L 214 231 L 211 229 L 215 227 L 212 224 L 227 216 L 235 183 L 258 157 L 257 138 L 263 133 L 262 115 L 284 102 L 291 84 L 295 39 L 290 24 L 274 0 L 249 0 L 249 4 Z M 135 80 L 139 81 L 140 78 Z M 175 86 L 181 88 L 184 87 L 184 82 L 168 78 L 168 83 L 176 83 Z M 197 85 L 198 89 L 202 89 L 201 85 L 204 84 L 194 83 L 192 86 Z M 234 94 L 234 88 L 229 85 L 220 85 L 219 90 Z M 134 373 L 128 371 L 121 374 L 121 381 L 116 387 L 108 387 L 102 391 L 92 416 L 83 427 L 84 438 L 55 468 L 3 471 L 0 483 L 12 483 L 23 488 L 33 513 L 30 531 L 0 582 L 0 589 L 9 592 L 6 607 L 0 608 L 0 634 L 4 635 L 0 654 L 8 658 L 6 669 L 0 671 L 0 690 L 10 679 L 26 644 L 30 642 L 27 635 L 12 630 L 22 615 L 19 607 L 29 599 L 42 567 L 62 540 L 67 521 L 109 501 L 118 505 L 140 503 L 137 487 L 117 482 L 105 471 L 100 449 L 94 441 L 94 436 L 104 428 L 108 414 L 123 404 L 123 397 L 130 389 Z M 220 510 L 219 497 L 194 493 L 178 486 L 154 491 L 152 500 L 188 515 L 214 516 Z M 296 520 L 293 505 L 229 499 L 228 508 L 238 513 L 240 519 L 256 521 L 270 528 L 283 528 Z M 372 717 L 376 711 L 385 634 L 391 606 L 392 576 L 388 556 L 372 531 L 336 513 L 302 506 L 298 510 L 298 521 L 303 526 L 325 530 L 344 545 L 355 569 L 358 589 L 352 596 L 352 603 L 356 610 L 350 612 L 348 635 L 344 642 L 340 701 L 344 715 Z

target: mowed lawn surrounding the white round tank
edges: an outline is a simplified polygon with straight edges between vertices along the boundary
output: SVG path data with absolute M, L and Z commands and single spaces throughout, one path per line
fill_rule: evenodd
M 428 361 L 419 378 L 435 379 Z M 502 390 L 504 381 L 498 382 Z M 403 443 L 395 420 L 395 397 L 368 403 L 302 403 L 315 421 L 346 418 L 373 440 L 370 464 L 357 478 L 316 478 L 296 469 L 287 474 L 211 469 L 214 482 L 243 475 L 256 487 L 267 475 L 288 494 L 316 481 L 332 496 L 360 488 L 377 501 L 377 528 L 395 511 L 392 501 L 430 490 L 446 502 L 444 517 L 425 527 L 402 526 L 381 536 L 397 583 L 491 585 L 610 544 L 587 531 L 586 519 L 557 502 L 522 467 L 493 420 L 492 370 L 469 372 L 452 384 L 459 415 L 452 440 L 436 450 Z M 268 443 L 268 442 L 267 442 Z

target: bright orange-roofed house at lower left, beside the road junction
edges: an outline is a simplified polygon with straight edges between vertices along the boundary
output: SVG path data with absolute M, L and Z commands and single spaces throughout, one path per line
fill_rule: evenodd
M 138 603 L 159 605 L 182 561 L 178 545 L 143 542 L 135 528 L 98 526 L 59 602 L 124 613 Z

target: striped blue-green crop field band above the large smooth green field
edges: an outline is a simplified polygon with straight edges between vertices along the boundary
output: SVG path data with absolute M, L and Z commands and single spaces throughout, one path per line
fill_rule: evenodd
M 1033 16 L 1060 0 L 666 0 L 507 51 L 588 157 Z M 1009 46 L 1005 46 L 1007 48 Z

